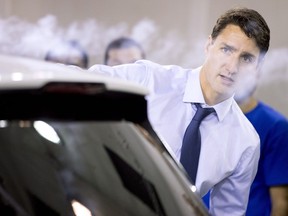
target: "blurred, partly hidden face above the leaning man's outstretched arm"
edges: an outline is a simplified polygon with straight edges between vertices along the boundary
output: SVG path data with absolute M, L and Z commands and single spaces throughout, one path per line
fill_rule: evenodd
M 142 59 L 141 51 L 138 47 L 127 47 L 120 49 L 111 49 L 108 53 L 108 66 L 133 63 Z

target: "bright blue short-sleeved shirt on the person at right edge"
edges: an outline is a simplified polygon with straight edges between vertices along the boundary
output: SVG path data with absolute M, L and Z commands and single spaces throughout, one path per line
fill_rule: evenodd
M 270 216 L 269 187 L 288 184 L 288 121 L 263 102 L 246 113 L 260 136 L 258 171 L 252 183 L 247 216 Z M 203 197 L 209 207 L 209 194 Z

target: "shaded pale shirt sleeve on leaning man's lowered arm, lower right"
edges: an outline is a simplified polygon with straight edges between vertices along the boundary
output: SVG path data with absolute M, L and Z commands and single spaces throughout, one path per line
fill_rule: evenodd
M 246 149 L 234 173 L 214 186 L 210 195 L 211 215 L 245 215 L 259 157 L 260 144 Z

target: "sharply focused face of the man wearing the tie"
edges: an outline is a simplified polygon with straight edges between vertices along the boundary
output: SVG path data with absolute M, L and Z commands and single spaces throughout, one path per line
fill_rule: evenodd
M 214 40 L 210 37 L 206 54 L 201 85 L 213 101 L 231 97 L 241 79 L 258 70 L 260 50 L 236 25 L 226 26 Z

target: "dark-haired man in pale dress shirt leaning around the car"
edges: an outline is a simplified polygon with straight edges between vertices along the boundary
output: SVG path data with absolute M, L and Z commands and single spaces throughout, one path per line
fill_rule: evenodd
M 259 69 L 269 40 L 270 30 L 258 12 L 235 8 L 217 20 L 207 40 L 206 59 L 194 70 L 146 60 L 89 69 L 150 89 L 148 118 L 178 160 L 197 104 L 214 108 L 200 125 L 201 153 L 195 182 L 200 196 L 212 189 L 211 215 L 244 215 L 246 211 L 260 140 L 233 96 L 241 79 Z

